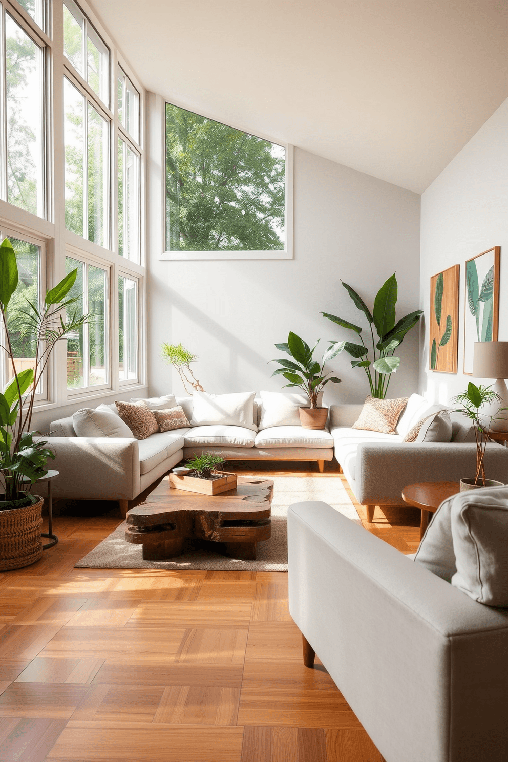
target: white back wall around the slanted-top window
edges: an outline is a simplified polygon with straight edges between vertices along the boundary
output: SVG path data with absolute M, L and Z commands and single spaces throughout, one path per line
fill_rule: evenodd
M 155 133 L 157 128 L 155 125 Z M 156 135 L 155 135 L 156 138 Z M 152 169 L 160 153 L 150 157 Z M 159 261 L 158 181 L 150 178 L 149 388 L 152 394 L 183 393 L 177 373 L 161 360 L 163 341 L 182 342 L 206 392 L 282 388 L 273 346 L 295 331 L 309 344 L 355 335 L 318 314 L 320 310 L 367 324 L 340 278 L 371 306 L 394 271 L 398 317 L 418 307 L 420 197 L 367 174 L 295 149 L 294 259 L 290 261 Z M 159 243 L 158 243 L 159 241 Z M 390 395 L 417 389 L 418 332 L 401 347 L 403 362 Z M 363 402 L 369 392 L 363 370 L 345 353 L 330 363 L 342 379 L 327 386 L 324 400 Z M 292 391 L 288 389 L 287 391 Z

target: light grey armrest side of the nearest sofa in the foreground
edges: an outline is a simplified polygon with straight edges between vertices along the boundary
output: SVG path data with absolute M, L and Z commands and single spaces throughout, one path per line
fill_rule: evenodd
M 508 610 L 324 503 L 289 508 L 288 557 L 290 613 L 385 759 L 506 755 Z

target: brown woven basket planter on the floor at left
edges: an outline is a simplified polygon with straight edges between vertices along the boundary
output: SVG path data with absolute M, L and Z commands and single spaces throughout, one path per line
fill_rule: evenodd
M 34 505 L 0 511 L 0 571 L 30 566 L 43 555 L 43 498 Z

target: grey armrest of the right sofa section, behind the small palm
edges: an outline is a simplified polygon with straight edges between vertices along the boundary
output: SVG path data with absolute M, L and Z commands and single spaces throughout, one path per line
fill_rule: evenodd
M 508 448 L 489 443 L 487 479 L 508 482 Z M 417 482 L 458 482 L 476 472 L 474 443 L 359 444 L 356 497 L 362 505 L 402 505 L 401 491 Z

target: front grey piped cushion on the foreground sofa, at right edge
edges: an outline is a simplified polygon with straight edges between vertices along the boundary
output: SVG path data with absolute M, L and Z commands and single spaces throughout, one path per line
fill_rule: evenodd
M 471 489 L 452 504 L 452 585 L 478 603 L 508 607 L 508 488 Z

